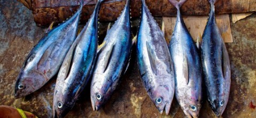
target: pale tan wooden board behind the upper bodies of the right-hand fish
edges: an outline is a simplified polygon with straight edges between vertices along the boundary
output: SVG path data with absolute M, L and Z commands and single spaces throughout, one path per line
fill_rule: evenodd
M 184 16 L 183 20 L 187 26 L 194 41 L 197 40 L 199 35 L 203 35 L 208 16 Z M 176 17 L 164 17 L 162 19 L 165 23 L 165 37 L 167 40 L 172 38 L 172 32 L 175 28 Z M 222 14 L 216 16 L 216 22 L 220 29 L 222 38 L 225 43 L 232 43 L 232 34 L 230 28 L 230 21 L 228 14 Z

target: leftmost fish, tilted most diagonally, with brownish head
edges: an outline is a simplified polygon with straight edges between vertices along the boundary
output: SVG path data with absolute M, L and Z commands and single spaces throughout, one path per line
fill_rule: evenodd
M 15 82 L 15 98 L 32 94 L 58 73 L 76 38 L 82 7 L 83 4 L 71 18 L 57 27 L 52 28 L 52 23 L 30 51 Z

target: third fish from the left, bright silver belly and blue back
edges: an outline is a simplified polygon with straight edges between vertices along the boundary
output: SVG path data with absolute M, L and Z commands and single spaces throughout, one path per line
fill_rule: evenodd
M 121 75 L 128 68 L 131 47 L 130 0 L 127 0 L 118 20 L 107 31 L 102 45 L 98 48 L 90 88 L 94 111 L 98 111 L 110 99 L 120 83 Z

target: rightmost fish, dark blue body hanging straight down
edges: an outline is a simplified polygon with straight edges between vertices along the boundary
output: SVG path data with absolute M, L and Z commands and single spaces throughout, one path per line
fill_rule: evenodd
M 228 103 L 231 70 L 228 51 L 216 24 L 214 3 L 217 1 L 209 0 L 211 10 L 202 36 L 201 60 L 207 100 L 214 114 L 220 117 Z

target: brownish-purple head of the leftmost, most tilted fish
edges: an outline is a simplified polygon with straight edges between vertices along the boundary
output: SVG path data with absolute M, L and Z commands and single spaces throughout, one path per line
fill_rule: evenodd
M 15 83 L 14 97 L 21 98 L 41 88 L 46 83 L 45 75 L 37 71 L 20 72 Z

